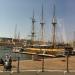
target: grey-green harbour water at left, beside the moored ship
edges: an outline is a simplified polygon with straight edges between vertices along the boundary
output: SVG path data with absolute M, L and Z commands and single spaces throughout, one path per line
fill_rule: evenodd
M 11 48 L 0 47 L 0 58 L 2 57 L 4 59 L 7 54 L 11 55 L 12 59 L 16 59 L 16 60 L 18 56 L 20 57 L 21 60 L 31 59 L 31 55 L 12 53 Z

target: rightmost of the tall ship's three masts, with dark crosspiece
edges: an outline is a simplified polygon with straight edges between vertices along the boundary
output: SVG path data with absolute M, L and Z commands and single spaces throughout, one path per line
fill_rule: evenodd
M 54 5 L 54 10 L 53 10 L 53 18 L 52 18 L 52 26 L 53 26 L 53 48 L 55 48 L 55 45 L 56 45 L 56 24 L 57 24 L 57 21 L 56 21 L 56 16 L 55 16 L 55 5 Z

